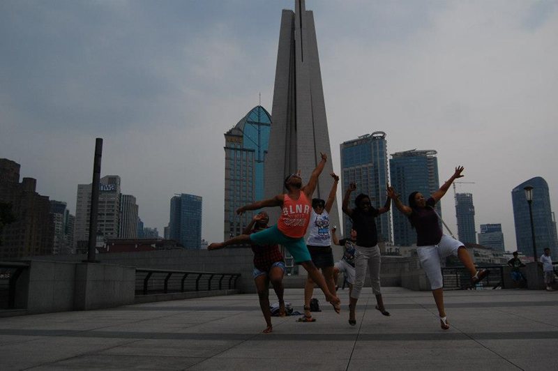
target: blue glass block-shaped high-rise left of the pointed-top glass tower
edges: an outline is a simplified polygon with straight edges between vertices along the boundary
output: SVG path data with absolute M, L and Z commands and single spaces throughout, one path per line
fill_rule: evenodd
M 184 248 L 201 247 L 202 197 L 182 193 L 170 199 L 169 237 Z

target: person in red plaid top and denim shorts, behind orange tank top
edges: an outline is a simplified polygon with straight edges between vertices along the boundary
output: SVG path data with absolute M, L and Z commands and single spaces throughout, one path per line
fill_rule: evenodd
M 254 215 L 252 221 L 243 230 L 243 234 L 252 234 L 269 228 L 269 215 L 261 211 Z M 212 250 L 215 250 L 214 248 Z M 257 245 L 252 243 L 254 252 L 254 270 L 252 276 L 256 285 L 257 296 L 259 298 L 259 308 L 262 309 L 267 327 L 263 333 L 271 333 L 271 309 L 269 308 L 269 283 L 273 286 L 279 300 L 279 316 L 285 317 L 285 300 L 283 293 L 283 275 L 285 275 L 285 259 L 279 251 L 278 245 Z

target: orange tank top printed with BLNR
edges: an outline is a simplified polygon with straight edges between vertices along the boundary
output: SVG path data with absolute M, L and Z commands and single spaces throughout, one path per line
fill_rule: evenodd
M 303 237 L 310 223 L 310 210 L 312 208 L 304 192 L 301 192 L 299 199 L 292 199 L 285 195 L 277 228 L 287 237 L 295 239 Z

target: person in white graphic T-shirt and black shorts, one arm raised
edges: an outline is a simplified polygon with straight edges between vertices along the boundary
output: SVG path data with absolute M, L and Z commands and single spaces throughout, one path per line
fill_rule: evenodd
M 329 235 L 329 212 L 337 194 L 337 183 L 339 176 L 330 174 L 333 185 L 329 191 L 327 201 L 323 199 L 312 199 L 312 211 L 310 212 L 310 234 L 306 240 L 308 252 L 312 257 L 312 263 L 316 268 L 322 270 L 329 292 L 335 293 L 335 282 L 333 282 L 333 253 L 331 252 L 331 236 Z M 304 285 L 304 316 L 299 318 L 300 322 L 315 321 L 310 314 L 310 299 L 314 293 L 314 281 L 308 276 Z

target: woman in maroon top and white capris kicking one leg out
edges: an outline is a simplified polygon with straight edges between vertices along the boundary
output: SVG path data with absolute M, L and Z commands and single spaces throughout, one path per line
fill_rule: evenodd
M 418 259 L 421 261 L 421 266 L 428 280 L 430 280 L 432 295 L 438 309 L 440 326 L 444 330 L 449 328 L 449 322 L 444 308 L 444 288 L 440 259 L 445 259 L 450 255 L 457 256 L 469 273 L 471 273 L 472 285 L 476 285 L 489 273 L 487 269 L 477 271 L 465 245 L 442 233 L 439 225 L 441 220 L 434 209 L 435 204 L 444 197 L 451 183 L 463 176 L 461 174 L 463 169 L 461 166 L 455 167 L 455 172 L 451 178 L 428 199 L 425 199 L 421 192 L 412 192 L 409 195 L 409 206 L 402 204 L 399 195 L 393 187 L 388 187 L 388 195 L 395 202 L 395 207 L 407 215 L 412 227 L 416 229 L 416 252 Z

